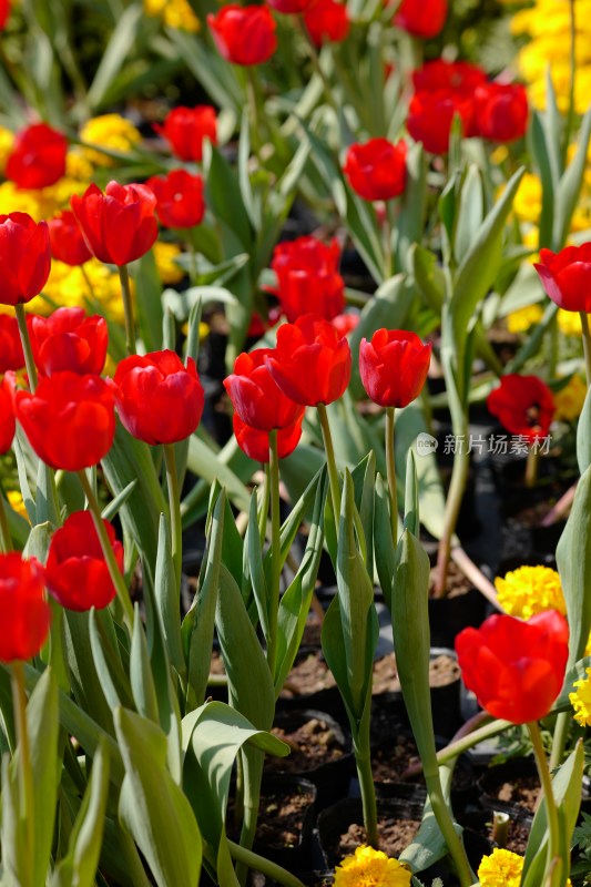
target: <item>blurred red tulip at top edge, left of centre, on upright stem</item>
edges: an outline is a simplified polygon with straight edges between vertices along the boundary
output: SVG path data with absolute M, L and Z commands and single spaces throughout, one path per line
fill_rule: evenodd
M 276 24 L 267 7 L 228 3 L 207 16 L 220 54 L 234 64 L 263 64 L 277 49 Z

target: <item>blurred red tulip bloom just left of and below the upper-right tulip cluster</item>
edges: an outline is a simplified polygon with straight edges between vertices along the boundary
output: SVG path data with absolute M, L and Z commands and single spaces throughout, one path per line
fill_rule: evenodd
M 405 190 L 406 154 L 403 140 L 393 144 L 387 139 L 370 139 L 349 147 L 343 172 L 365 201 L 389 201 Z

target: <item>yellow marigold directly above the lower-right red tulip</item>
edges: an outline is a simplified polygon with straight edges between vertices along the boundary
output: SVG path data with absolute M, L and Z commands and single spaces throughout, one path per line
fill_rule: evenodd
M 495 588 L 500 605 L 511 616 L 529 619 L 544 610 L 567 613 L 560 577 L 550 567 L 519 567 L 505 579 L 497 577 Z

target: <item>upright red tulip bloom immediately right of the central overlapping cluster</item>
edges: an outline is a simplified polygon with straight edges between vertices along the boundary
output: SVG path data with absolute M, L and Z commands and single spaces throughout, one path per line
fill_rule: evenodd
M 431 348 L 404 329 L 378 329 L 371 341 L 361 339 L 359 373 L 371 400 L 380 407 L 406 407 L 415 400 L 427 378 Z

